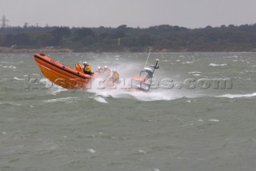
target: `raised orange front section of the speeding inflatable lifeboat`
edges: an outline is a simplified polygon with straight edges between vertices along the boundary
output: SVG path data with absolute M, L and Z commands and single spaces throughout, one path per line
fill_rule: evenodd
M 38 63 L 42 74 L 56 85 L 66 89 L 90 88 L 91 76 L 82 72 L 82 66 L 77 64 L 76 70 L 64 66 L 47 57 L 45 54 L 35 54 L 34 60 Z

